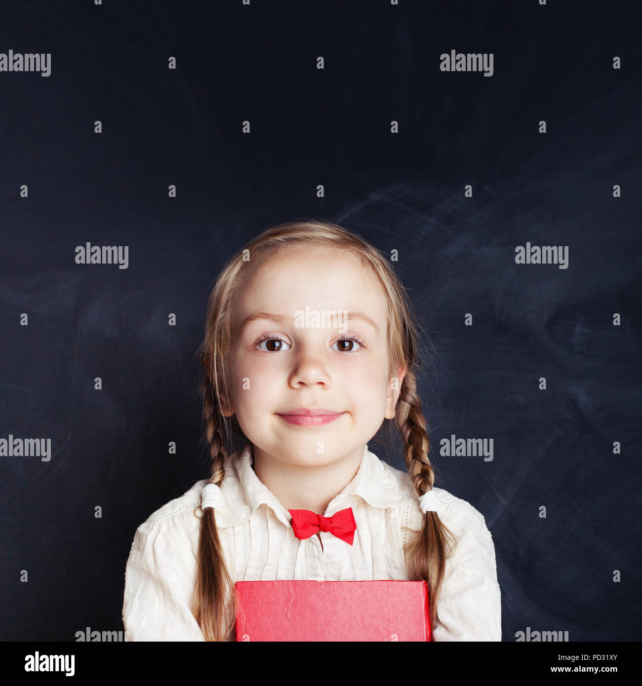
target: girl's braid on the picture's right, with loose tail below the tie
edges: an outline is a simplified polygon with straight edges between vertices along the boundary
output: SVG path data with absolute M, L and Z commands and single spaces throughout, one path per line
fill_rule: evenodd
M 432 490 L 435 472 L 428 460 L 428 434 L 426 419 L 421 410 L 421 401 L 416 392 L 417 381 L 408 370 L 401 386 L 395 425 L 404 442 L 404 458 L 408 473 L 421 497 Z M 411 580 L 423 579 L 428 583 L 431 626 L 439 621 L 437 601 L 444 580 L 446 560 L 452 554 L 455 537 L 437 516 L 437 512 L 426 512 L 422 530 L 406 548 L 406 565 Z

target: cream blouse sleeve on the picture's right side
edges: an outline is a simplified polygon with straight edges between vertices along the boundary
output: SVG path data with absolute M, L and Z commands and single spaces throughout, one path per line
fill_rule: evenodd
M 442 493 L 447 503 L 442 520 L 459 541 L 446 562 L 435 641 L 501 641 L 501 591 L 492 536 L 481 512 Z

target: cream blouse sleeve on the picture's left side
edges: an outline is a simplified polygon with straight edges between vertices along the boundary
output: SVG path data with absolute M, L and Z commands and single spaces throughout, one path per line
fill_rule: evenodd
M 205 641 L 190 609 L 195 573 L 194 551 L 178 522 L 141 524 L 125 570 L 126 641 Z

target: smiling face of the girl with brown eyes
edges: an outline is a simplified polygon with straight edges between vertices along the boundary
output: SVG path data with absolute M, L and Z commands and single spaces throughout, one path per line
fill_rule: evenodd
M 393 386 L 376 277 L 345 250 L 295 246 L 248 263 L 242 281 L 225 414 L 236 412 L 253 445 L 293 464 L 321 466 L 363 449 L 394 416 L 404 375 Z M 284 418 L 301 408 L 339 414 Z

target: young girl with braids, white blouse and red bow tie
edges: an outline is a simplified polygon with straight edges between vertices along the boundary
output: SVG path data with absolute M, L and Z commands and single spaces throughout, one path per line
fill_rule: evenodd
M 410 307 L 389 260 L 328 222 L 227 263 L 199 351 L 211 476 L 137 529 L 129 640 L 234 640 L 235 582 L 290 579 L 426 580 L 435 641 L 501 640 L 485 520 L 433 488 Z M 407 473 L 368 449 L 384 419 Z

